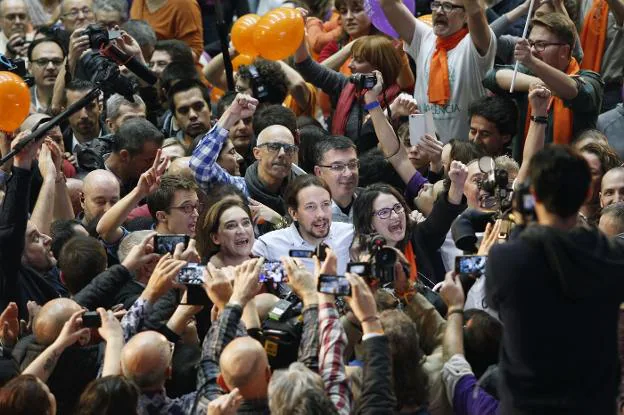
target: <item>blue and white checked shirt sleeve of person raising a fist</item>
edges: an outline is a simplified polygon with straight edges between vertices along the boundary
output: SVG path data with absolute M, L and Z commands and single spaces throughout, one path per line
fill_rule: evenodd
M 203 188 L 219 183 L 233 184 L 245 193 L 245 196 L 249 196 L 245 178 L 232 176 L 217 164 L 219 153 L 228 135 L 229 131 L 218 124 L 212 127 L 193 150 L 189 165 L 195 174 L 195 180 Z

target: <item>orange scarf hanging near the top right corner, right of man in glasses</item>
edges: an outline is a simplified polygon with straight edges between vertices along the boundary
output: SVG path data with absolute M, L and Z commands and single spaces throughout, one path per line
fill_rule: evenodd
M 581 68 L 600 72 L 604 45 L 607 40 L 607 25 L 609 21 L 609 6 L 606 0 L 594 0 L 581 31 L 581 45 L 583 46 L 583 62 Z

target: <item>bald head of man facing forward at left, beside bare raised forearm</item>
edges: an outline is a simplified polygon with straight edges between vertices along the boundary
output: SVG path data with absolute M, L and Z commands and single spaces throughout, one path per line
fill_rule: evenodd
M 82 188 L 84 222 L 102 216 L 119 200 L 119 181 L 108 170 L 93 170 L 84 178 Z

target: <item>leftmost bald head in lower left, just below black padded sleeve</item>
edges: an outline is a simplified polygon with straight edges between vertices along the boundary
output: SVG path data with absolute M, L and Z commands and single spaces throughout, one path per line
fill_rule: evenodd
M 81 309 L 69 298 L 57 298 L 45 303 L 33 321 L 35 341 L 42 346 L 51 345 L 72 314 Z

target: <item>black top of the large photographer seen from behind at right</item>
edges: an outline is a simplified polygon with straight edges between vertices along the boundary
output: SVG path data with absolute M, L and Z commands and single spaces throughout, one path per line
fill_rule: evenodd
M 615 413 L 622 240 L 529 227 L 490 250 L 486 293 L 505 325 L 502 413 Z

